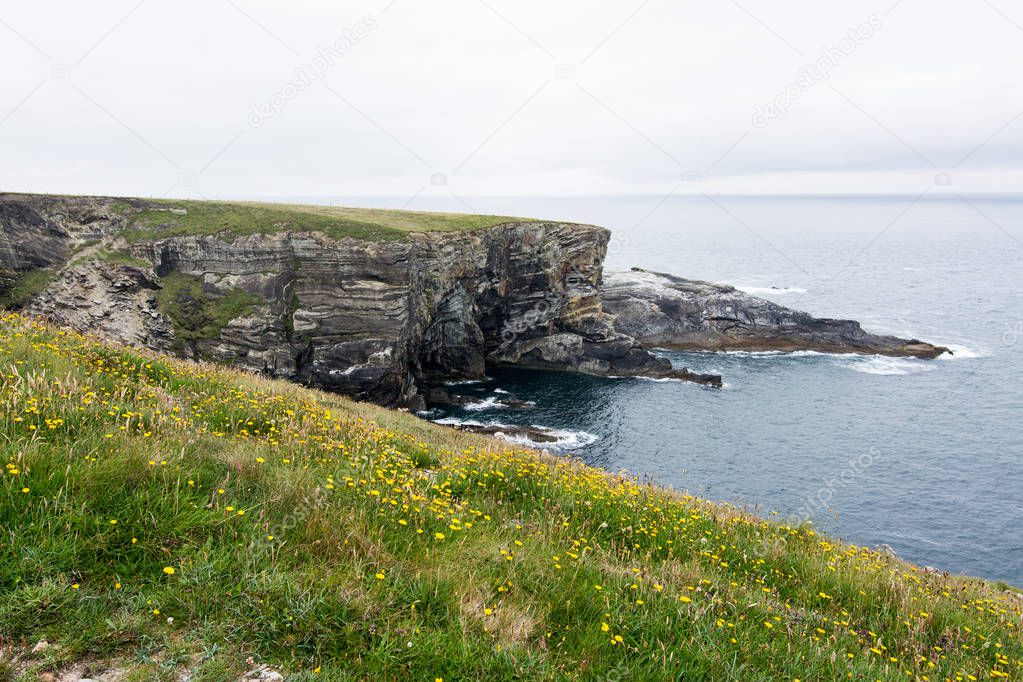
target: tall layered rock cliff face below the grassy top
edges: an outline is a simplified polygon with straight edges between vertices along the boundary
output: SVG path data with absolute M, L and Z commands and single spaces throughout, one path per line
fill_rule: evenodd
M 280 231 L 129 244 L 119 235 L 139 208 L 152 207 L 0 197 L 0 267 L 55 270 L 27 310 L 411 407 L 438 382 L 482 377 L 487 364 L 720 380 L 674 370 L 615 330 L 598 291 L 603 228 L 509 222 L 389 241 Z

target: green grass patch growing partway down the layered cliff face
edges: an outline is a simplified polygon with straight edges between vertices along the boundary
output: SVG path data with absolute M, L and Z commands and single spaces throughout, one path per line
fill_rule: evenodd
M 161 279 L 157 305 L 174 325 L 176 350 L 191 349 L 197 355 L 197 342 L 215 339 L 227 323 L 249 314 L 260 302 L 243 289 L 234 288 L 212 298 L 203 287 L 203 278 L 172 272 Z

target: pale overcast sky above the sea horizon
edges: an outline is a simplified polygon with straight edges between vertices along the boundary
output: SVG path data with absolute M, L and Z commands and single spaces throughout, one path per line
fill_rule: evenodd
M 1023 190 L 1021 0 L 0 1 L 0 189 Z

